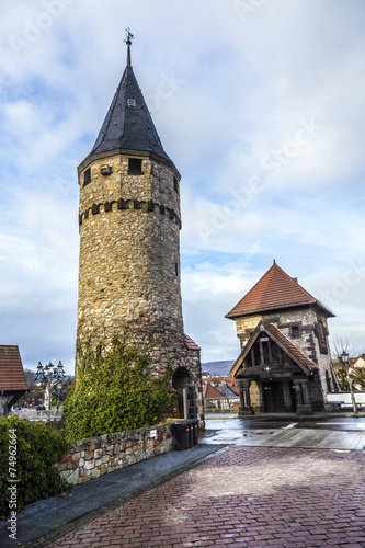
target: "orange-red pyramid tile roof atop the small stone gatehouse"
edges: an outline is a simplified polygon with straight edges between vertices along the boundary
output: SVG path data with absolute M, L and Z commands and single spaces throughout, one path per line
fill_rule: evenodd
M 226 315 L 226 318 L 233 319 L 240 316 L 303 305 L 317 305 L 327 317 L 334 316 L 274 263 L 252 289 Z

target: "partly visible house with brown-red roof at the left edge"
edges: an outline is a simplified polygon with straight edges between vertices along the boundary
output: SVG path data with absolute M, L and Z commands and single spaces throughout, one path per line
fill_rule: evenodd
M 28 391 L 19 347 L 0 345 L 0 414 L 7 416 L 14 403 Z

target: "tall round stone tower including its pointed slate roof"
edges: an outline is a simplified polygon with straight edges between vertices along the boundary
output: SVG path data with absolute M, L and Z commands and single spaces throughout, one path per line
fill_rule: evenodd
M 181 176 L 138 87 L 129 35 L 127 46 L 121 83 L 78 168 L 78 341 L 107 345 L 117 334 L 148 351 L 153 373 L 170 365 L 174 388 L 189 395 L 187 414 L 203 420 L 199 349 L 183 330 Z

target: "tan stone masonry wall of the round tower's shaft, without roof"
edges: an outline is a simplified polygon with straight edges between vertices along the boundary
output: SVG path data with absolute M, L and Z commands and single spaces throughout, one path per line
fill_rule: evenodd
M 104 164 L 111 174 L 101 174 Z M 122 155 L 90 169 L 88 185 L 80 175 L 79 340 L 127 331 L 138 346 L 158 349 L 160 364 L 172 362 L 183 350 L 173 171 L 144 159 L 142 174 L 128 174 Z

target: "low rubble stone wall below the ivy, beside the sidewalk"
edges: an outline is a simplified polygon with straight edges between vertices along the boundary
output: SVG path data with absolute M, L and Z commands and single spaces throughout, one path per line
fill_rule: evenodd
M 174 447 L 173 426 L 161 424 L 73 442 L 56 468 L 68 483 L 84 483 L 118 468 L 169 453 Z

